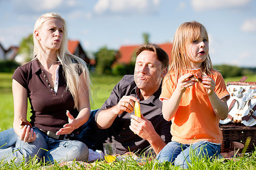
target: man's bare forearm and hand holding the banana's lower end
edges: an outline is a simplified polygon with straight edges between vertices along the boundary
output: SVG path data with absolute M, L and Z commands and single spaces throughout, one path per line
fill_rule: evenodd
M 163 139 L 156 133 L 154 126 L 143 115 L 141 118 L 133 114 L 131 115 L 130 129 L 139 137 L 146 139 L 156 154 L 166 146 Z

